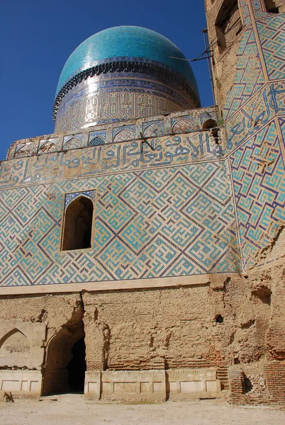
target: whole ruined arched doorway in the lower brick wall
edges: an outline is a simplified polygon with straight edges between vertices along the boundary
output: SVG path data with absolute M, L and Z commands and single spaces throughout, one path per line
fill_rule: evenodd
M 84 392 L 86 371 L 83 312 L 74 314 L 47 346 L 43 395 Z

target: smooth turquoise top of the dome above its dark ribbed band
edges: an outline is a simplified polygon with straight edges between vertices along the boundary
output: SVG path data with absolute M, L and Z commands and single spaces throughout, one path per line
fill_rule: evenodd
M 197 98 L 199 91 L 194 73 L 186 59 L 173 42 L 163 35 L 137 26 L 118 26 L 91 35 L 69 56 L 60 74 L 56 96 L 75 75 L 107 60 L 130 58 L 157 62 L 182 74 Z

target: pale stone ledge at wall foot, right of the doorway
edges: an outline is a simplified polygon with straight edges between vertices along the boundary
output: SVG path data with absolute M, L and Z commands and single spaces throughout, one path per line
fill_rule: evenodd
M 84 395 L 93 399 L 150 400 L 220 397 L 215 368 L 108 370 L 85 374 Z

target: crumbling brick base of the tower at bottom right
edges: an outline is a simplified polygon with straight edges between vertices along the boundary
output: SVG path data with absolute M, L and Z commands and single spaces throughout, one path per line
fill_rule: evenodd
M 235 403 L 285 401 L 284 262 L 253 268 L 248 275 L 251 308 L 238 337 L 238 361 L 229 369 Z M 245 338 L 247 335 L 247 338 Z

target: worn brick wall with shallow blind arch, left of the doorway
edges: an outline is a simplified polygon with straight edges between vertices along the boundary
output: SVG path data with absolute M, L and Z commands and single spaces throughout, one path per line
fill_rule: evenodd
M 47 341 L 82 309 L 77 294 L 0 297 L 0 305 L 0 368 L 4 369 L 40 370 Z

